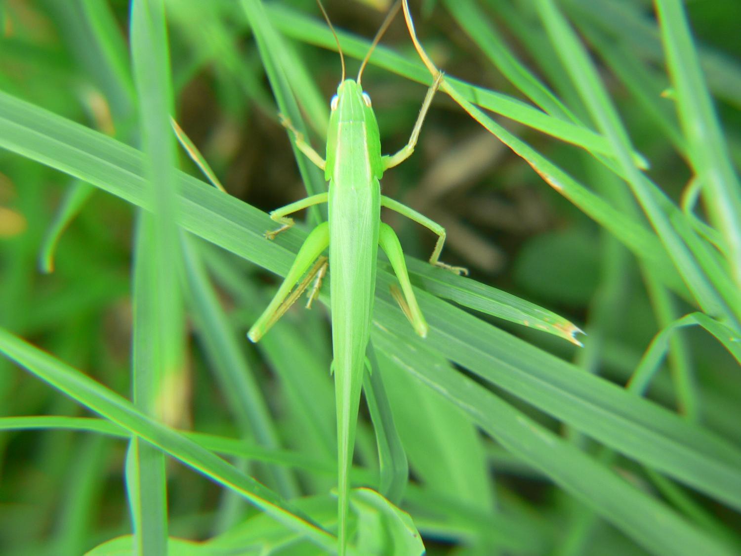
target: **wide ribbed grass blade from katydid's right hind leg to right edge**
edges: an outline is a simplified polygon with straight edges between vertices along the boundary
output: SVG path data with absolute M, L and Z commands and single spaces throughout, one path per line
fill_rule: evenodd
M 419 345 L 404 317 L 382 308 L 393 309 L 385 293 L 391 283 L 379 273 L 376 314 L 383 315 L 384 328 Z M 418 291 L 417 297 L 430 325 L 427 342 L 444 357 L 622 454 L 741 507 L 741 451 L 720 437 L 429 294 Z

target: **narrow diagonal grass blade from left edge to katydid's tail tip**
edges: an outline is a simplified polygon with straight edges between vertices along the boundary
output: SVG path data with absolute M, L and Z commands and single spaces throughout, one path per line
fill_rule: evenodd
M 0 351 L 73 400 L 154 446 L 159 446 L 163 451 L 215 480 L 216 483 L 242 494 L 254 506 L 293 531 L 306 535 L 318 546 L 326 550 L 332 550 L 336 546 L 336 537 L 296 513 L 281 497 L 252 477 L 242 474 L 182 434 L 146 417 L 124 398 L 3 328 L 0 328 Z

